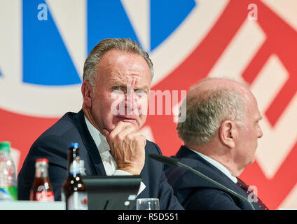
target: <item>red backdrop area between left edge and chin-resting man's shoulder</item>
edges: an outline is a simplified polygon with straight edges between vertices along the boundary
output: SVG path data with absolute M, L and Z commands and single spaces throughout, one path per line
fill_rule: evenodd
M 20 150 L 18 172 L 33 142 L 58 119 L 25 116 L 0 109 L 0 141 L 11 141 L 11 147 Z

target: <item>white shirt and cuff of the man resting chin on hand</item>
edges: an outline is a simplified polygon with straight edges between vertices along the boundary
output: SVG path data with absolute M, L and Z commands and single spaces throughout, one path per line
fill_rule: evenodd
M 124 170 L 118 169 L 118 165 L 116 165 L 116 160 L 114 160 L 113 156 L 110 153 L 109 144 L 99 130 L 94 127 L 88 118 L 85 116 L 85 123 L 87 124 L 88 130 L 92 136 L 92 139 L 95 141 L 95 144 L 98 148 L 99 154 L 101 156 L 103 166 L 107 176 L 125 176 L 132 175 Z M 141 181 L 139 191 L 137 195 L 139 195 L 144 188 L 146 188 L 145 184 Z

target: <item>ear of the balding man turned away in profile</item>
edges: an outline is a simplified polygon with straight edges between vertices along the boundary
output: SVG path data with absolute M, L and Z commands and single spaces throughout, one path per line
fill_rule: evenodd
M 228 148 L 235 147 L 235 139 L 237 137 L 237 129 L 232 120 L 225 120 L 219 128 L 219 139 L 224 146 Z

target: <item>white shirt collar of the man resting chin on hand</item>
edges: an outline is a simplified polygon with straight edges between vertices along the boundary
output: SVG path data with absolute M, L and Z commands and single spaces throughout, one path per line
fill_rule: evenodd
M 99 150 L 99 153 L 104 153 L 106 151 L 109 151 L 109 144 L 106 141 L 106 138 L 104 137 L 99 130 L 97 130 L 96 127 L 94 127 L 88 118 L 85 116 L 85 123 L 88 127 L 88 130 L 91 134 L 92 139 L 95 141 L 95 144 Z

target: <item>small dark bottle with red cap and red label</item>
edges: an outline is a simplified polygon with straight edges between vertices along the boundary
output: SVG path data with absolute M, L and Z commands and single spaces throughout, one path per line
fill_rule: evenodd
M 48 178 L 48 159 L 37 159 L 35 162 L 35 179 L 30 192 L 30 200 L 54 202 L 54 192 Z

